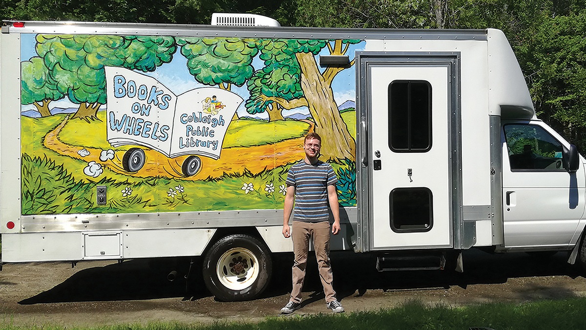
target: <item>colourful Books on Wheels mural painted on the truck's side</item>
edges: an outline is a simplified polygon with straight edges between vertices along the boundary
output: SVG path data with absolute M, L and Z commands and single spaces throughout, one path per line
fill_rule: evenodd
M 22 37 L 23 215 L 280 209 L 312 131 L 356 205 L 355 65 L 318 58 L 365 41 Z

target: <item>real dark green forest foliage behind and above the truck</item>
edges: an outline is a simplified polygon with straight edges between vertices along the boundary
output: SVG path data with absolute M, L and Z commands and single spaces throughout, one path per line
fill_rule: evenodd
M 502 29 L 537 115 L 586 150 L 586 3 L 581 0 L 0 0 L 0 17 L 8 20 L 207 25 L 213 12 L 270 16 L 282 26 Z

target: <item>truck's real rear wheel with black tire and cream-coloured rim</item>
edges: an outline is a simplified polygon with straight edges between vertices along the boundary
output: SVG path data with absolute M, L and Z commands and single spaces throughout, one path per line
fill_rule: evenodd
M 270 251 L 255 237 L 229 235 L 217 241 L 203 261 L 203 280 L 220 301 L 257 298 L 271 279 Z

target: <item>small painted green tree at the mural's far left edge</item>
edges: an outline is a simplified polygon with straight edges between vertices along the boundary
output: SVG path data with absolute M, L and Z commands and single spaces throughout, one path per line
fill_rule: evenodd
M 42 117 L 50 116 L 49 103 L 65 95 L 57 90 L 43 59 L 35 56 L 22 62 L 21 73 L 21 104 L 35 105 Z

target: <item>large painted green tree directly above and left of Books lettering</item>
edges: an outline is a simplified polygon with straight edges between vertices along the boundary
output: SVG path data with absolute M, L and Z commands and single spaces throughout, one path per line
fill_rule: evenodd
M 106 102 L 104 66 L 152 72 L 176 50 L 170 36 L 38 35 L 36 41 L 59 93 L 79 104 L 72 118 L 86 121 L 96 120 Z

